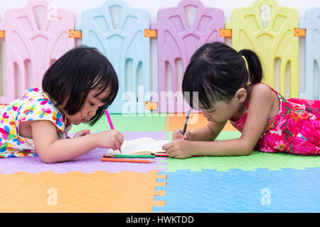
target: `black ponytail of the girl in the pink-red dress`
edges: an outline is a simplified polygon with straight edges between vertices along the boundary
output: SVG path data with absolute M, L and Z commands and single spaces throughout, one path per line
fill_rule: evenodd
M 247 49 L 240 50 L 239 54 L 247 60 L 250 84 L 260 83 L 262 80 L 262 65 L 257 54 Z

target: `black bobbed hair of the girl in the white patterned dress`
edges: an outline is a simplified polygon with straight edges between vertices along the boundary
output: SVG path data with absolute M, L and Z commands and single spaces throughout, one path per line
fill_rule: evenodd
M 108 94 L 102 100 L 104 105 L 90 119 L 92 126 L 114 101 L 119 84 L 117 74 L 107 57 L 96 48 L 81 45 L 65 52 L 49 67 L 43 76 L 42 89 L 55 101 L 55 106 L 66 101 L 63 110 L 69 115 L 82 109 L 90 90 L 97 91 L 95 96 L 107 90 Z

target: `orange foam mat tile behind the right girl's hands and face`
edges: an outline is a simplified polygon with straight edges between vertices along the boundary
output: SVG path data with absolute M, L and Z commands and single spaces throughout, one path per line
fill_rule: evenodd
M 174 132 L 176 129 L 183 130 L 186 114 L 167 114 L 164 130 Z M 187 131 L 194 131 L 208 124 L 207 119 L 203 114 L 190 114 L 188 119 Z M 238 131 L 233 125 L 227 121 L 223 131 Z

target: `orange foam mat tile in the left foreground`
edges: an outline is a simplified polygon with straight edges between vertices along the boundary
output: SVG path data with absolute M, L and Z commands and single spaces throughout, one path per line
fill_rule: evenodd
M 0 212 L 151 212 L 158 172 L 0 175 Z

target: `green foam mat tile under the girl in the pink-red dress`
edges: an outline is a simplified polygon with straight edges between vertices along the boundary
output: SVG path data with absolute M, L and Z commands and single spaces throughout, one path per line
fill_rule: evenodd
M 223 131 L 217 139 L 237 138 L 239 135 L 237 135 L 237 133 L 238 132 Z M 169 157 L 168 160 L 161 160 L 161 162 L 166 162 L 166 165 L 163 166 L 166 167 L 166 172 L 176 172 L 176 170 L 190 170 L 191 172 L 199 172 L 202 170 L 228 171 L 230 169 L 253 171 L 262 168 L 267 168 L 268 170 L 282 170 L 282 168 L 306 170 L 306 167 L 320 167 L 320 156 L 263 153 L 254 150 L 247 156 L 189 157 L 183 160 Z

